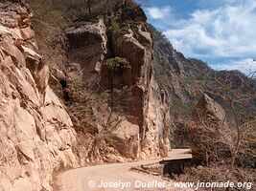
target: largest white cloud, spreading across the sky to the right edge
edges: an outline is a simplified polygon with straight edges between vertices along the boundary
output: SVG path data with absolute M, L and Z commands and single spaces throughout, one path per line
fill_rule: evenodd
M 189 19 L 175 21 L 164 33 L 186 56 L 255 57 L 255 21 L 256 0 L 237 0 L 215 10 L 194 11 Z

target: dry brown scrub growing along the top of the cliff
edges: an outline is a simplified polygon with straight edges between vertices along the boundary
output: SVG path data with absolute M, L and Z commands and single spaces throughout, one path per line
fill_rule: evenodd
M 148 0 L 136 2 L 141 5 L 149 3 Z M 36 18 L 61 27 L 77 19 L 91 19 L 96 15 L 116 11 L 128 4 L 137 5 L 133 0 L 29 0 L 29 3 Z

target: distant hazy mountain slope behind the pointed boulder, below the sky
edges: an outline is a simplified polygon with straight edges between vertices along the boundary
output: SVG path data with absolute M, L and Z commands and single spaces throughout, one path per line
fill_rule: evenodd
M 237 109 L 247 116 L 255 113 L 255 80 L 239 71 L 215 71 L 201 60 L 186 58 L 161 32 L 151 25 L 150 29 L 154 40 L 155 77 L 160 88 L 168 93 L 175 119 L 188 119 L 203 93 L 218 100 L 228 114 L 223 96 L 246 97 L 236 105 Z

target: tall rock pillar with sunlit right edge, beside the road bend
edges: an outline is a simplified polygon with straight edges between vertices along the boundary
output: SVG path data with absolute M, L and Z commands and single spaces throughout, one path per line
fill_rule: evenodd
M 126 57 L 131 67 L 128 115 L 135 117 L 135 121 L 130 122 L 135 122 L 139 128 L 138 156 L 143 159 L 159 158 L 170 148 L 166 138 L 168 126 L 164 124 L 165 117 L 169 116 L 169 107 L 152 72 L 152 38 L 146 20 L 136 28 L 134 32 L 129 29 L 129 33 L 122 36 L 113 35 L 112 50 L 115 56 Z

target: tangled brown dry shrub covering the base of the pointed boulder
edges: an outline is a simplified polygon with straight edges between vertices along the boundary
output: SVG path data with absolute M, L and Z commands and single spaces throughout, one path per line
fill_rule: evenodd
M 227 165 L 234 144 L 233 131 L 228 126 L 219 127 L 215 123 L 190 125 L 190 142 L 194 159 L 206 165 L 215 162 Z

